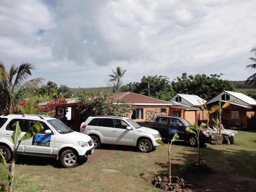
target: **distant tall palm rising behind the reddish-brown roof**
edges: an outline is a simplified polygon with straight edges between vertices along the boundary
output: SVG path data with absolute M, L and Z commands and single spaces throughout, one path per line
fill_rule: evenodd
M 113 83 L 113 92 L 117 92 L 122 85 L 122 78 L 126 72 L 121 67 L 116 67 L 115 71 L 111 69 L 113 74 L 108 75 L 110 77 L 109 82 Z

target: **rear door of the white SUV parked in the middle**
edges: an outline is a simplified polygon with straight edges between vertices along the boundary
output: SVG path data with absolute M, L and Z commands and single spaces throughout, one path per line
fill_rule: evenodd
M 95 133 L 100 135 L 101 143 L 113 144 L 114 120 L 111 118 L 101 118 L 98 125 L 94 127 Z

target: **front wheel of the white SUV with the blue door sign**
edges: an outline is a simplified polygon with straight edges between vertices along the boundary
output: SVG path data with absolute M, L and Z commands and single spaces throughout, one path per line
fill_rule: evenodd
M 71 168 L 78 165 L 78 154 L 68 149 L 61 153 L 60 164 L 62 167 Z

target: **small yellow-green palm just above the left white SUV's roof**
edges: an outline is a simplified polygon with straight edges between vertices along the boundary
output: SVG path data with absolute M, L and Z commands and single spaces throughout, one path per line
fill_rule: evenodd
M 30 97 L 26 101 L 25 107 L 18 105 L 18 109 L 23 114 L 35 114 L 40 107 L 38 104 L 36 104 L 38 100 L 38 96 L 30 95 Z

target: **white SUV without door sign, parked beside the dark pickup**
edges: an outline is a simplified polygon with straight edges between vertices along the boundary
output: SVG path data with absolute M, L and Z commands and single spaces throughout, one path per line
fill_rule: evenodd
M 91 116 L 80 126 L 80 132 L 89 135 L 94 148 L 101 143 L 137 146 L 141 152 L 150 152 L 161 139 L 158 131 L 138 125 L 127 117 Z

